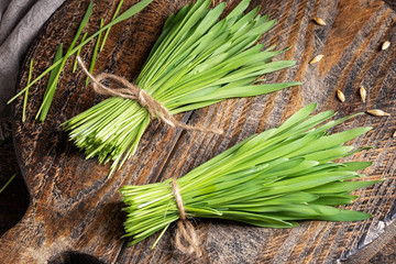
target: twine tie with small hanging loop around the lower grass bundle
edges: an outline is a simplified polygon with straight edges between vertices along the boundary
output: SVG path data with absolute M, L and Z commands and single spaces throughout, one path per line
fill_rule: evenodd
M 193 227 L 190 221 L 188 221 L 186 218 L 186 211 L 183 206 L 183 200 L 176 179 L 172 180 L 170 186 L 172 186 L 172 193 L 176 200 L 177 209 L 180 215 L 180 219 L 177 221 L 175 245 L 177 250 L 179 250 L 185 254 L 191 255 L 196 253 L 197 256 L 200 256 L 202 252 L 199 248 L 200 244 L 199 238 L 195 228 Z

